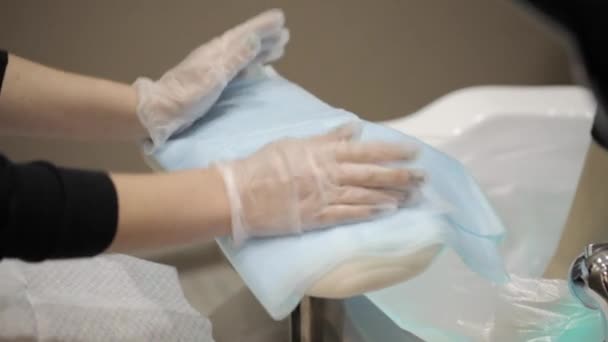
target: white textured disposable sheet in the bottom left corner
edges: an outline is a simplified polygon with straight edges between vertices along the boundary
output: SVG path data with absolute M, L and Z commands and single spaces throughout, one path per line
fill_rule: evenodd
M 126 255 L 0 263 L 1 341 L 213 341 L 173 267 Z

